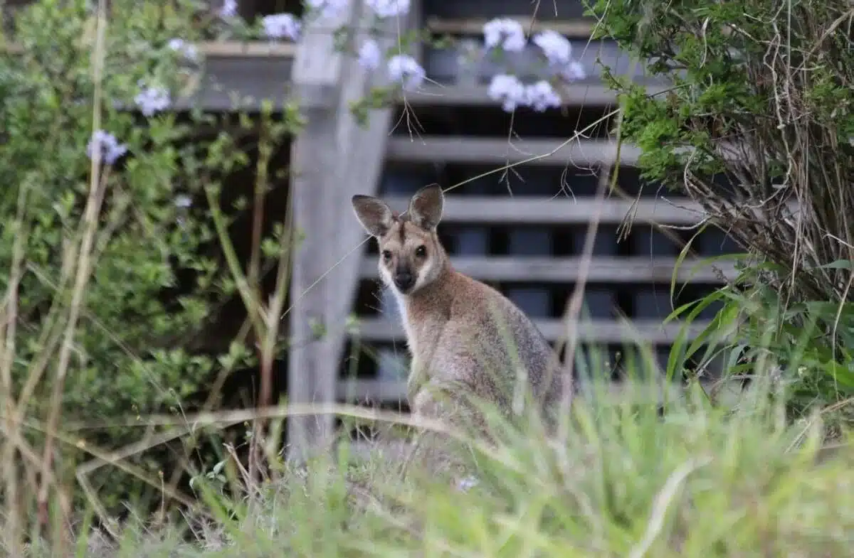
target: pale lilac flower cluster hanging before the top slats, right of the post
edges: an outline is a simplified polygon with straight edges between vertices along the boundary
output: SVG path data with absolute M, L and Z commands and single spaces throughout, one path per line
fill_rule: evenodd
M 559 32 L 551 30 L 538 33 L 531 41 L 546 57 L 548 67 L 565 82 L 586 77 L 584 67 L 572 60 L 572 45 Z M 495 18 L 483 25 L 483 43 L 487 49 L 521 52 L 526 46 L 522 24 L 509 18 Z M 523 84 L 516 76 L 500 73 L 493 76 L 487 92 L 489 98 L 501 103 L 501 108 L 512 112 L 518 107 L 533 108 L 542 112 L 558 108 L 560 96 L 545 79 L 534 84 Z

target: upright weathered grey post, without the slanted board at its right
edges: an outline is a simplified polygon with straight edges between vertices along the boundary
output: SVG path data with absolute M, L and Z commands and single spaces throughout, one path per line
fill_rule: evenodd
M 335 18 L 314 20 L 303 29 L 293 72 L 299 98 L 327 90 L 337 99 L 342 91 L 342 60 L 334 49 L 332 32 L 356 21 L 351 4 Z M 336 397 L 336 336 L 317 337 L 316 327 L 330 323 L 330 297 L 334 278 L 328 275 L 339 243 L 336 206 L 340 193 L 330 189 L 330 175 L 342 165 L 346 148 L 339 141 L 337 102 L 333 108 L 307 103 L 306 125 L 292 143 L 291 199 L 294 226 L 303 240 L 296 245 L 290 282 L 290 334 L 288 401 L 325 404 Z M 330 218 L 332 216 L 333 218 Z M 288 420 L 289 459 L 304 462 L 315 452 L 330 448 L 332 416 L 292 416 Z

